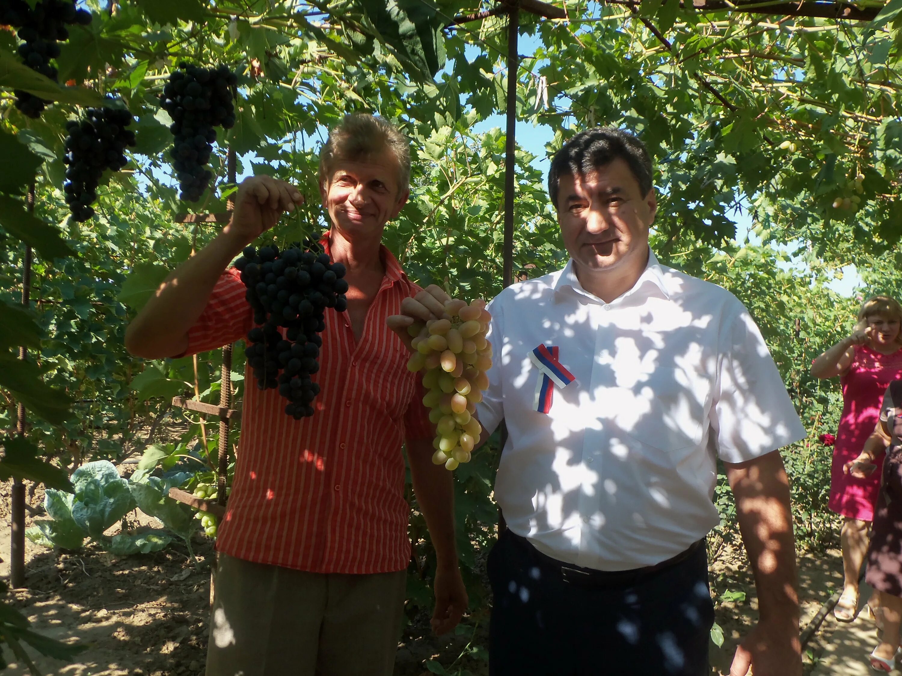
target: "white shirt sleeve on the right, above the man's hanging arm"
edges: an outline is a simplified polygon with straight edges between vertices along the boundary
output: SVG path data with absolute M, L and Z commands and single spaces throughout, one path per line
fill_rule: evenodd
M 723 327 L 713 392 L 711 422 L 724 462 L 753 460 L 807 435 L 758 326 L 740 308 Z

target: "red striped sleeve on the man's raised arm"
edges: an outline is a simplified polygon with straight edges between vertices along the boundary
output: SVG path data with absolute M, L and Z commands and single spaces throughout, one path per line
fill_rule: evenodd
M 253 308 L 245 293 L 241 272 L 226 269 L 198 321 L 188 330 L 188 349 L 180 356 L 215 350 L 243 339 L 253 327 Z

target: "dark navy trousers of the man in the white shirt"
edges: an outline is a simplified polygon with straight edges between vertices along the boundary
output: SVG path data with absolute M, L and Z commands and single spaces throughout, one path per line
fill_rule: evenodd
M 704 544 L 613 586 L 566 581 L 505 531 L 488 560 L 491 676 L 708 676 L 714 608 Z

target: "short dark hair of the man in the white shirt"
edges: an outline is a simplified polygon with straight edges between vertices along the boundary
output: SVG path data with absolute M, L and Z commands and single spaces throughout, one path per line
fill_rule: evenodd
M 595 127 L 577 133 L 555 153 L 548 169 L 548 196 L 557 209 L 557 184 L 561 176 L 585 176 L 622 158 L 639 182 L 642 196 L 651 189 L 651 158 L 645 143 L 614 127 Z

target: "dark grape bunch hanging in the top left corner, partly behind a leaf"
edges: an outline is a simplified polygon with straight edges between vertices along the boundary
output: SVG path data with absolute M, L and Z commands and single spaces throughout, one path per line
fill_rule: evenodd
M 66 25 L 70 23 L 91 23 L 91 13 L 76 9 L 75 0 L 41 0 L 33 8 L 24 0 L 0 0 L 0 24 L 19 29 L 17 35 L 23 41 L 19 56 L 30 69 L 54 81 L 57 69 L 51 66 L 51 59 L 60 56 L 57 42 L 69 40 Z M 40 96 L 15 90 L 15 107 L 29 117 L 40 117 L 49 103 Z

